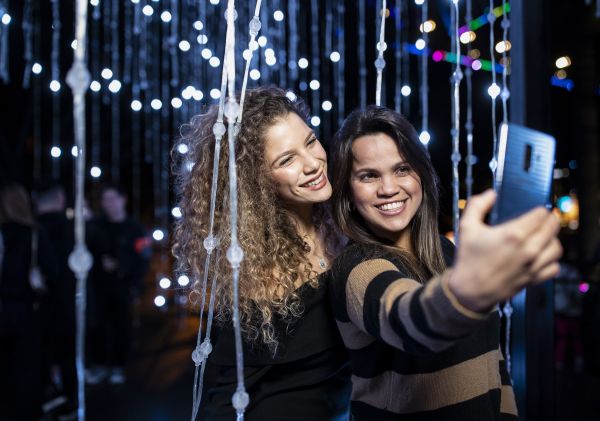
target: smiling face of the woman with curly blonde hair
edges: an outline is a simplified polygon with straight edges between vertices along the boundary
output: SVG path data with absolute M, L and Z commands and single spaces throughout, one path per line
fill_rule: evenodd
M 327 154 L 314 132 L 289 113 L 265 134 L 265 161 L 286 204 L 315 204 L 331 197 Z

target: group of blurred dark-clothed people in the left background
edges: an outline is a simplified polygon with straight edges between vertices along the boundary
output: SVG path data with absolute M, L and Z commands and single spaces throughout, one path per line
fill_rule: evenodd
M 126 381 L 131 305 L 150 240 L 127 214 L 116 185 L 100 191 L 101 214 L 85 209 L 94 263 L 87 281 L 86 381 Z M 76 279 L 69 268 L 74 220 L 60 185 L 31 195 L 0 188 L 0 414 L 3 420 L 76 419 Z

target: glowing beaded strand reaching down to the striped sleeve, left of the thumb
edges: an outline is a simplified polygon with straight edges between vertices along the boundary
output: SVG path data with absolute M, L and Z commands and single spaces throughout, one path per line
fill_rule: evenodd
M 458 164 L 460 163 L 460 150 L 459 150 L 459 140 L 460 140 L 460 81 L 462 79 L 462 71 L 460 69 L 460 40 L 458 34 L 458 0 L 451 1 L 451 25 L 452 28 L 452 36 L 451 36 L 451 44 L 452 49 L 454 50 L 454 54 L 456 59 L 456 65 L 454 67 L 454 72 L 452 73 L 452 77 L 450 78 L 450 85 L 452 90 L 452 210 L 453 210 L 453 227 L 454 227 L 454 237 L 458 239 L 458 227 L 459 227 L 459 218 L 460 218 L 460 210 L 459 210 L 459 200 L 460 200 L 460 190 L 459 190 L 459 174 L 458 174 Z

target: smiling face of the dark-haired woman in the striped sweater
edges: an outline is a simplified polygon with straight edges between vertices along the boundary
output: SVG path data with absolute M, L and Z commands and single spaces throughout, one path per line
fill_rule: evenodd
M 352 156 L 350 191 L 356 210 L 373 234 L 410 250 L 410 222 L 423 201 L 419 176 L 384 133 L 354 140 Z

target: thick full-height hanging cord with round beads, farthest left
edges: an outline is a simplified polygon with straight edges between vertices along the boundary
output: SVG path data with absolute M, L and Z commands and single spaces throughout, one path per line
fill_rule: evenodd
M 75 48 L 73 66 L 67 73 L 67 84 L 73 91 L 73 121 L 75 125 L 75 248 L 69 255 L 69 267 L 75 273 L 77 285 L 76 304 L 76 358 L 78 382 L 77 418 L 85 420 L 85 312 L 87 274 L 92 267 L 92 255 L 85 245 L 85 221 L 83 202 L 85 188 L 85 92 L 90 85 L 90 73 L 86 67 L 87 0 L 77 0 L 75 15 Z

